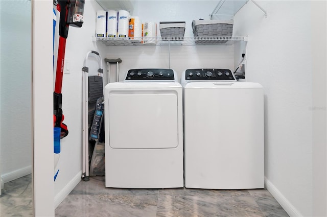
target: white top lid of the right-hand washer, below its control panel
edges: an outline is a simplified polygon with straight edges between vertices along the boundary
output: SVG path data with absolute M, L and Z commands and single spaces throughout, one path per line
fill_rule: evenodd
M 254 82 L 190 82 L 183 85 L 184 88 L 263 88 L 261 84 Z

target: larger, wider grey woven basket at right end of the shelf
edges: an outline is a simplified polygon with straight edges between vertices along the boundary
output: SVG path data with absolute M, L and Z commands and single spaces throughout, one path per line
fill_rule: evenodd
M 197 36 L 232 36 L 233 20 L 193 20 L 193 35 Z

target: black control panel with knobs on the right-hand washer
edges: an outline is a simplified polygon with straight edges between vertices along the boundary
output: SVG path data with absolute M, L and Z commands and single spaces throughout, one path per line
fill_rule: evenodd
M 197 68 L 185 70 L 186 81 L 232 81 L 231 70 L 221 68 Z

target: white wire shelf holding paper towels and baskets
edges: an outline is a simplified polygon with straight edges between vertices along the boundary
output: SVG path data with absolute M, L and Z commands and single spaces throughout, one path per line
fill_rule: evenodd
M 106 45 L 231 45 L 236 41 L 247 41 L 247 37 L 97 37 Z

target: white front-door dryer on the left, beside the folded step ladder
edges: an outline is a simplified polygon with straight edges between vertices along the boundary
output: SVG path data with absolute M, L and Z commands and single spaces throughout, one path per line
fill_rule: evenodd
M 182 86 L 172 69 L 131 69 L 105 86 L 106 187 L 183 187 Z

